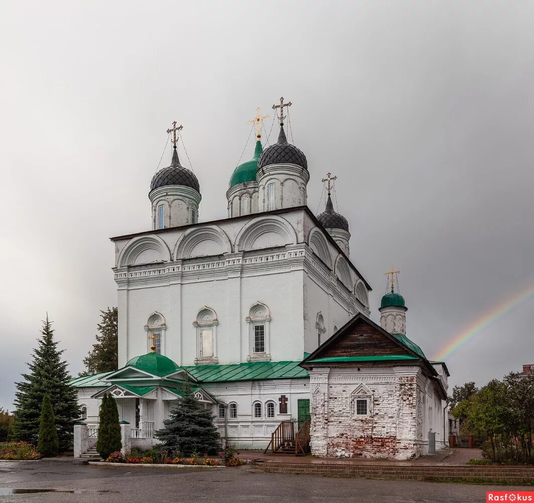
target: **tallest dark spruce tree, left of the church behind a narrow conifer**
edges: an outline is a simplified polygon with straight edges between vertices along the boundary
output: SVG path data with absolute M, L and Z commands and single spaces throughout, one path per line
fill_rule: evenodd
M 41 405 L 46 393 L 50 395 L 52 410 L 56 418 L 59 451 L 72 449 L 74 423 L 80 417 L 76 389 L 69 384 L 67 362 L 61 359 L 65 350 L 58 350 L 54 341 L 51 322 L 43 321 L 41 338 L 28 363 L 28 374 L 22 374 L 23 381 L 15 383 L 15 421 L 13 435 L 36 445 L 41 417 Z

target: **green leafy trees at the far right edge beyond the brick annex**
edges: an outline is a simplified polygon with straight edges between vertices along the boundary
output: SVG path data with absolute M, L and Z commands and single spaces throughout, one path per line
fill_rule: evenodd
M 534 376 L 494 379 L 452 409 L 466 429 L 488 437 L 493 461 L 533 462 Z

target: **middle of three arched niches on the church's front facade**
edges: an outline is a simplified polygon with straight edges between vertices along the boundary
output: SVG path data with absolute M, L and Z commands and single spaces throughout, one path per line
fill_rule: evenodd
M 217 226 L 207 226 L 186 230 L 174 247 L 178 259 L 206 257 L 231 253 L 232 244 L 224 231 Z

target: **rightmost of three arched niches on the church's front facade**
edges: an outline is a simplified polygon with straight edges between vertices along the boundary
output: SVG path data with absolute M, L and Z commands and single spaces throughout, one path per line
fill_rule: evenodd
M 235 249 L 261 250 L 296 243 L 297 235 L 289 222 L 278 215 L 270 215 L 250 220 L 239 231 L 235 239 Z

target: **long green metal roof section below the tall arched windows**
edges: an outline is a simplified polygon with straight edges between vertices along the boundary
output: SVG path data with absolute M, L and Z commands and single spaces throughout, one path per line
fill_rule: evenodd
M 308 371 L 299 367 L 299 363 L 300 361 L 257 361 L 232 365 L 195 365 L 182 368 L 185 368 L 195 379 L 204 383 L 309 377 Z

